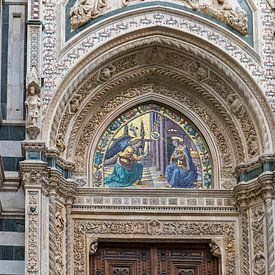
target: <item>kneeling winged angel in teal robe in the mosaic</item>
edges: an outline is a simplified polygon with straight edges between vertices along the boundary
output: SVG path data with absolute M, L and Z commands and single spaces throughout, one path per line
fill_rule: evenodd
M 141 144 L 141 139 L 130 137 L 123 137 L 113 144 L 106 154 L 105 164 L 115 163 L 115 165 L 112 174 L 105 178 L 105 185 L 127 187 L 141 181 L 143 165 L 139 162 L 142 157 L 138 154 Z M 112 156 L 114 152 L 117 153 Z

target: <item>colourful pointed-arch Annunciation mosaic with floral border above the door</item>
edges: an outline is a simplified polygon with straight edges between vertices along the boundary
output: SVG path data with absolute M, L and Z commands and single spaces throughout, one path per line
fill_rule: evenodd
M 137 106 L 106 129 L 92 164 L 95 186 L 211 188 L 212 161 L 198 129 L 153 103 Z

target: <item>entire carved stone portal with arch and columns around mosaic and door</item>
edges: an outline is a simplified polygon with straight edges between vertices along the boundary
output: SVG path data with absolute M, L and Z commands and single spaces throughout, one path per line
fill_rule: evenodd
M 272 113 L 249 74 L 202 41 L 161 27 L 133 32 L 91 52 L 60 84 L 44 120 L 46 146 L 26 145 L 21 164 L 28 273 L 85 274 L 91 240 L 100 238 L 214 239 L 225 274 L 274 270 Z M 150 97 L 202 129 L 220 173 L 215 189 L 110 191 L 79 184 L 78 176 L 88 178 L 101 130 Z M 37 152 L 34 165 L 30 156 Z M 232 191 L 237 165 L 241 184 Z M 34 244 L 35 236 L 45 239 Z

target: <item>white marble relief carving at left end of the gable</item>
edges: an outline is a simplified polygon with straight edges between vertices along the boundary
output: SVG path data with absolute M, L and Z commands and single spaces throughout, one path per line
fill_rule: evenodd
M 107 0 L 77 0 L 70 10 L 72 29 L 100 16 L 105 10 L 106 4 Z

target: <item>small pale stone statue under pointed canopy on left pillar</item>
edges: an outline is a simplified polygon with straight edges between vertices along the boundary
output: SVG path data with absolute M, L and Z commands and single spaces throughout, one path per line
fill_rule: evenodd
M 40 87 L 36 68 L 33 66 L 28 76 L 27 98 L 25 101 L 27 109 L 26 130 L 30 139 L 35 139 L 40 132 Z

